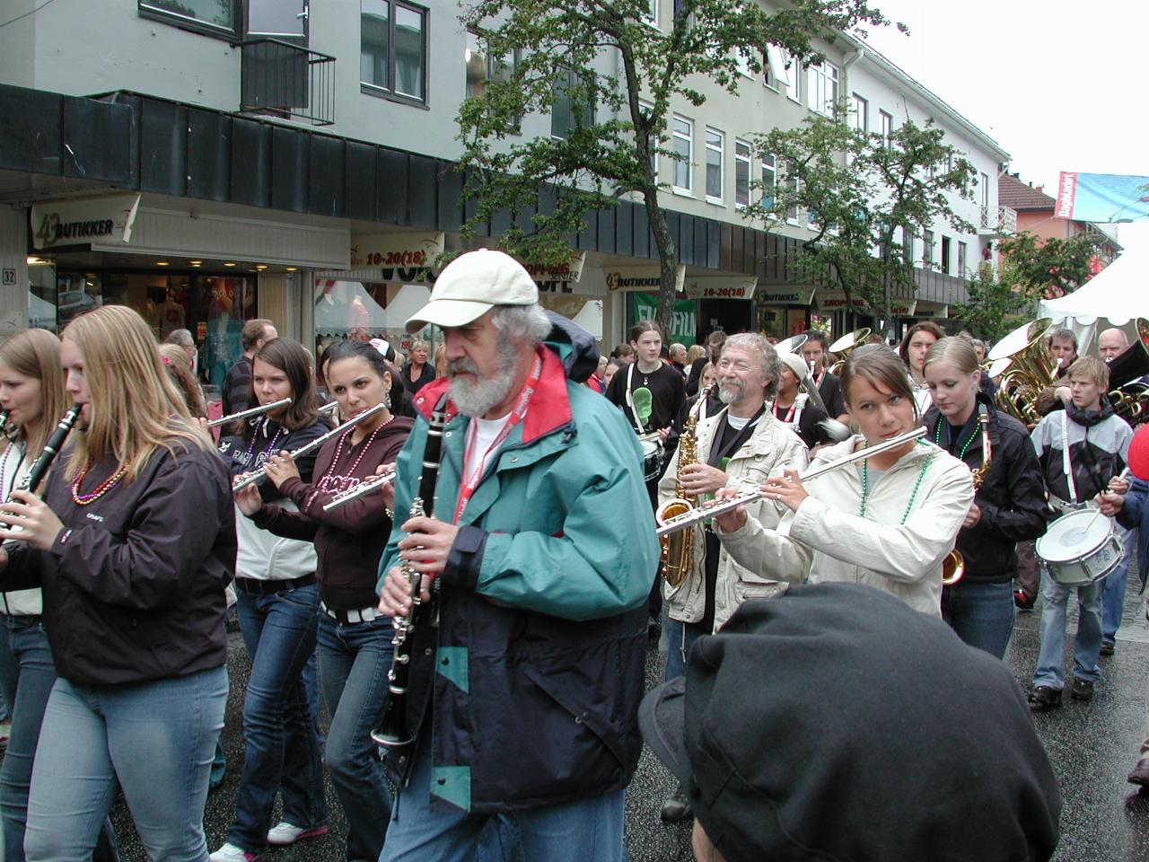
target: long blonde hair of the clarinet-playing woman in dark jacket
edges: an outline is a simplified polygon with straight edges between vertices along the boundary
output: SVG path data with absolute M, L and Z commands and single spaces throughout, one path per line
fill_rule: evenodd
M 211 448 L 164 372 L 155 336 L 136 311 L 126 306 L 94 308 L 72 320 L 63 337 L 83 356 L 92 402 L 91 422 L 68 463 L 68 478 L 90 459 L 111 457 L 131 482 L 157 447 L 175 454 L 173 440 Z

